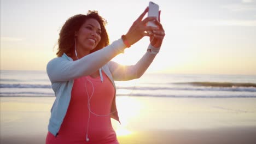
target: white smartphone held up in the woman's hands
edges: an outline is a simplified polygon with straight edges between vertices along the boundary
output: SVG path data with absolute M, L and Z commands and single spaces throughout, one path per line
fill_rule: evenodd
M 149 2 L 148 17 L 157 17 L 159 19 L 159 5 L 154 2 Z M 147 26 L 157 27 L 153 21 L 149 21 Z

